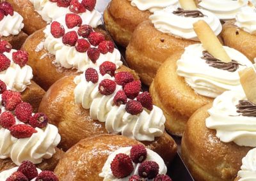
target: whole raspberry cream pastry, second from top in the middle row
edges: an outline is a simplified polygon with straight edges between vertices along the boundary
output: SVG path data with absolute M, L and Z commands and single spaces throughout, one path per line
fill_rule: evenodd
M 33 69 L 34 80 L 43 89 L 49 89 L 63 76 L 83 72 L 89 64 L 99 66 L 111 61 L 118 67 L 122 65 L 120 52 L 113 42 L 105 41 L 103 34 L 95 33 L 86 25 L 91 18 L 69 13 L 26 40 L 22 49 L 29 53 L 28 64 Z M 73 24 L 73 19 L 77 24 L 76 21 Z

